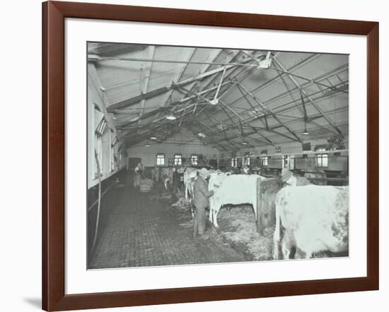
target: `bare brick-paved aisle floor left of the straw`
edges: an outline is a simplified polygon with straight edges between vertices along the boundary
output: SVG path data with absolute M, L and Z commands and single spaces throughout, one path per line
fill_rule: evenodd
M 243 260 L 231 248 L 193 239 L 192 229 L 180 226 L 168 200 L 124 189 L 117 202 L 91 258 L 92 269 Z

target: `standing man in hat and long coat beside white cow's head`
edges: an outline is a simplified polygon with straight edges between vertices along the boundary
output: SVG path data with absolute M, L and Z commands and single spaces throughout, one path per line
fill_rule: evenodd
M 214 195 L 214 191 L 208 191 L 208 184 L 205 181 L 207 174 L 207 169 L 203 168 L 199 170 L 197 172 L 197 179 L 193 184 L 194 237 L 202 235 L 205 232 L 205 208 L 209 206 L 209 197 Z

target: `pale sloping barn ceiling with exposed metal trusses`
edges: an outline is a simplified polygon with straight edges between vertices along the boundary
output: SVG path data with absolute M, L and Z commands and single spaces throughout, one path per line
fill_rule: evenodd
M 204 143 L 223 150 L 347 135 L 349 57 L 272 51 L 271 66 L 259 68 L 267 54 L 88 45 L 89 63 L 105 89 L 108 112 L 127 145 L 151 136 L 162 142 L 182 127 L 195 136 L 203 133 Z M 197 77 L 203 73 L 205 77 Z M 220 82 L 219 102 L 212 105 Z M 168 114 L 177 119 L 166 119 Z M 302 134 L 305 127 L 308 136 Z

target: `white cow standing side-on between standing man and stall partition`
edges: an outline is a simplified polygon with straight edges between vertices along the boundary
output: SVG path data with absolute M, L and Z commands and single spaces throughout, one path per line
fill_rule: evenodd
M 223 205 L 250 204 L 257 220 L 257 180 L 265 179 L 262 176 L 246 174 L 216 174 L 209 179 L 209 190 L 214 196 L 209 198 L 209 221 L 215 227 L 217 215 Z

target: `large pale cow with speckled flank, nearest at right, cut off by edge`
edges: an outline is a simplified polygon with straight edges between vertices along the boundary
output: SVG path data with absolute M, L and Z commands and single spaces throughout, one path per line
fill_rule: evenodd
M 281 225 L 284 228 L 280 239 Z M 273 258 L 301 258 L 315 253 L 348 253 L 349 187 L 289 186 L 276 198 L 276 227 Z

